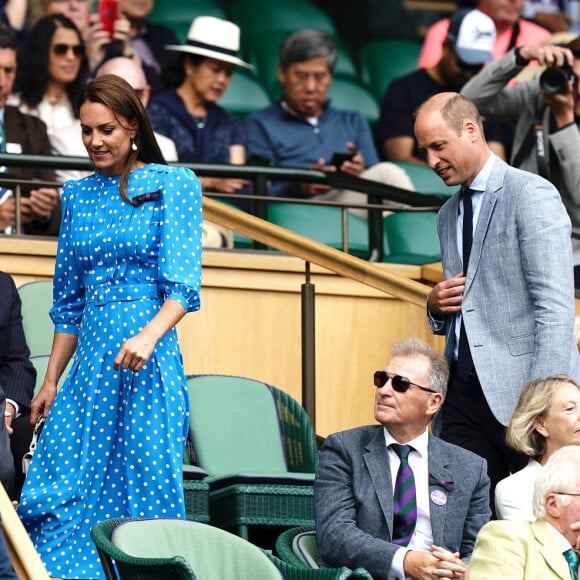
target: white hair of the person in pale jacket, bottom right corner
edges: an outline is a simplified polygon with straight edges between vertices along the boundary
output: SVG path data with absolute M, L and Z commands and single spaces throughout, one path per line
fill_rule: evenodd
M 580 446 L 566 445 L 555 451 L 536 477 L 534 483 L 534 516 L 543 518 L 546 515 L 546 496 L 550 492 L 561 492 L 558 501 L 561 505 L 570 503 L 566 493 L 577 494 L 576 482 L 580 472 Z

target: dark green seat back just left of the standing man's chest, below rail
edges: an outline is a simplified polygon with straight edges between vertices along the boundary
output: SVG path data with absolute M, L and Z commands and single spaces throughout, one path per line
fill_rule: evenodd
M 383 220 L 389 254 L 383 262 L 421 265 L 441 260 L 436 212 L 398 212 Z

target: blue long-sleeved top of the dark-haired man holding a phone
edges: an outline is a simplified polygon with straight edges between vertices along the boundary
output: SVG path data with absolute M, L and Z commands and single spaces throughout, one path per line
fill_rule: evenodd
M 319 159 L 330 163 L 335 151 L 354 143 L 365 165 L 379 162 L 370 127 L 358 111 L 334 109 L 328 103 L 316 123 L 275 103 L 246 119 L 247 155 L 260 155 L 275 167 L 306 169 Z M 270 195 L 302 197 L 298 183 L 274 183 Z

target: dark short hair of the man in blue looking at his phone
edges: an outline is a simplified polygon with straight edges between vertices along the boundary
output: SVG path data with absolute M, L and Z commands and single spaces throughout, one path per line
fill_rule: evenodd
M 283 70 L 296 62 L 313 58 L 326 59 L 328 68 L 334 71 L 338 53 L 332 39 L 320 30 L 303 28 L 287 36 L 280 44 L 278 62 Z

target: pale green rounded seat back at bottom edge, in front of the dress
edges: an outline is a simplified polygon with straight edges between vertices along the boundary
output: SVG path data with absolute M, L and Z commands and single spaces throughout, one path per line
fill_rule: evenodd
M 119 524 L 112 543 L 136 558 L 181 556 L 199 580 L 280 580 L 281 572 L 257 546 L 219 528 L 188 520 L 152 519 Z

